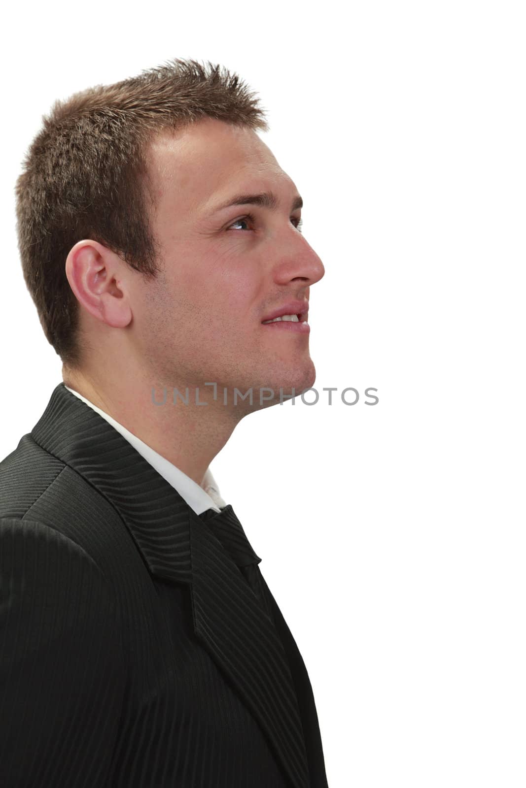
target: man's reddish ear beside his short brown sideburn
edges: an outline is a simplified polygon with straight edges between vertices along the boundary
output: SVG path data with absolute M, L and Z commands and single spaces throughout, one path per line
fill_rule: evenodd
M 132 320 L 123 266 L 118 255 L 93 240 L 76 243 L 65 261 L 65 275 L 77 301 L 94 318 L 118 329 Z

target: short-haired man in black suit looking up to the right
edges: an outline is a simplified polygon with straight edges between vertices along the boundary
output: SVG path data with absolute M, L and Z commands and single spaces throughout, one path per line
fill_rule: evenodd
M 21 260 L 63 383 L 0 464 L 2 785 L 326 786 L 304 662 L 209 470 L 315 380 L 323 264 L 255 129 L 236 75 L 174 60 L 57 102 L 28 151 Z

